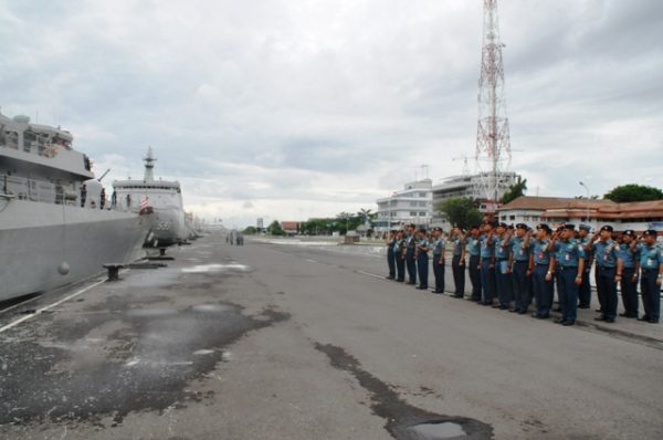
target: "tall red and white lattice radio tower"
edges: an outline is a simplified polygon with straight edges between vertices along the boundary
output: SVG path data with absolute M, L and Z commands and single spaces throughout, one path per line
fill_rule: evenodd
M 476 168 L 488 211 L 498 203 L 499 181 L 511 165 L 511 139 L 506 99 L 504 97 L 504 63 L 497 21 L 497 0 L 484 0 L 484 38 L 478 80 L 478 125 L 476 128 Z

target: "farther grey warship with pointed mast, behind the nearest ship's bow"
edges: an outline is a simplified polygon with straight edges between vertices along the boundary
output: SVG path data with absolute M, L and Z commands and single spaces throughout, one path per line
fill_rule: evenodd
M 143 158 L 145 176 L 143 180 L 113 181 L 114 205 L 133 212 L 150 210 L 154 212 L 154 227 L 145 241 L 147 248 L 167 248 L 180 244 L 189 238 L 185 219 L 182 191 L 177 180 L 155 180 L 152 149 L 147 149 Z

